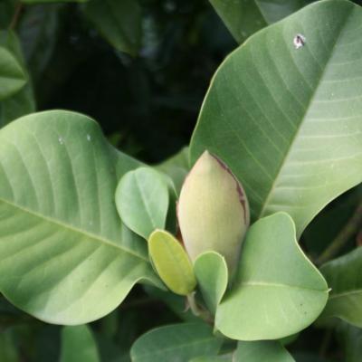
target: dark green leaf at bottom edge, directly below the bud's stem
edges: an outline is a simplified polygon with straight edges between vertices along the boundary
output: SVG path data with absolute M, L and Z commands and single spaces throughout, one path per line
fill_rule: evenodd
M 188 362 L 193 357 L 214 356 L 222 339 L 206 324 L 184 323 L 152 329 L 132 346 L 132 362 Z

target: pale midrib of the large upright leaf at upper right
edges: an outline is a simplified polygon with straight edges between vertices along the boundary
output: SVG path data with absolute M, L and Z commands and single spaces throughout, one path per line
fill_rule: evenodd
M 334 54 L 334 52 L 335 52 L 336 45 L 337 45 L 337 43 L 338 43 L 338 41 L 339 41 L 340 35 L 341 35 L 343 29 L 345 28 L 346 24 L 348 23 L 348 18 L 349 18 L 349 16 L 354 12 L 354 10 L 355 10 L 355 7 L 354 7 L 354 6 L 351 6 L 351 7 L 350 7 L 350 10 L 349 10 L 349 13 L 346 15 L 343 23 L 341 24 L 341 26 L 340 26 L 340 28 L 339 28 L 339 30 L 338 30 L 338 36 L 336 36 L 336 38 L 335 38 L 335 42 L 333 43 L 332 49 L 331 49 L 331 51 L 329 52 L 329 57 L 328 57 L 328 59 L 326 60 L 326 62 L 325 62 L 325 64 L 324 64 L 323 70 L 320 71 L 319 80 L 316 82 L 316 87 L 314 88 L 314 90 L 312 91 L 312 93 L 311 93 L 311 95 L 310 95 L 310 100 L 308 101 L 308 104 L 307 104 L 307 106 L 306 106 L 306 108 L 305 108 L 304 114 L 303 114 L 303 116 L 302 116 L 301 119 L 300 119 L 300 125 L 299 125 L 299 127 L 297 127 L 297 130 L 296 130 L 296 132 L 295 132 L 294 137 L 291 139 L 291 143 L 290 143 L 290 146 L 289 146 L 289 148 L 288 148 L 288 151 L 286 152 L 285 157 L 284 157 L 284 158 L 282 159 L 282 161 L 281 161 L 281 165 L 280 165 L 280 167 L 279 167 L 279 169 L 278 169 L 278 171 L 277 171 L 277 174 L 276 174 L 276 176 L 275 176 L 275 178 L 274 178 L 274 181 L 273 181 L 272 184 L 271 184 L 271 189 L 270 189 L 268 195 L 267 195 L 266 198 L 265 198 L 265 201 L 264 201 L 264 203 L 263 203 L 263 205 L 262 205 L 262 208 L 261 208 L 260 213 L 259 213 L 258 216 L 257 216 L 257 219 L 259 219 L 259 218 L 261 218 L 262 216 L 265 215 L 265 214 L 264 214 L 264 213 L 265 213 L 265 209 L 267 208 L 267 206 L 268 206 L 268 204 L 269 204 L 269 201 L 270 201 L 270 198 L 271 198 L 271 195 L 273 194 L 273 191 L 274 191 L 274 189 L 275 189 L 275 187 L 276 187 L 276 185 L 277 185 L 277 183 L 278 183 L 278 181 L 279 181 L 279 177 L 281 176 L 281 171 L 282 171 L 284 165 L 287 163 L 287 161 L 288 161 L 288 159 L 289 159 L 289 157 L 290 157 L 290 155 L 291 155 L 292 146 L 293 146 L 295 140 L 298 138 L 298 136 L 299 136 L 299 134 L 300 134 L 300 129 L 302 128 L 302 125 L 304 124 L 304 121 L 305 121 L 305 119 L 306 119 L 306 115 L 308 114 L 308 112 L 309 112 L 309 110 L 310 110 L 310 104 L 311 104 L 312 101 L 314 100 L 315 95 L 316 95 L 317 91 L 319 90 L 320 82 L 322 81 L 322 79 L 323 79 L 323 77 L 324 77 L 324 75 L 325 75 L 325 72 L 326 72 L 326 70 L 327 70 L 327 68 L 328 68 L 327 65 L 329 64 L 329 61 L 330 61 L 330 59 L 332 58 L 332 56 L 333 56 L 333 54 Z

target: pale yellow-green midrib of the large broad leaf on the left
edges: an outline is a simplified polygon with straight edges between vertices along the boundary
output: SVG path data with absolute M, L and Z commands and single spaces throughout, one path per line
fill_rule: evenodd
M 98 234 L 90 233 L 88 231 L 84 231 L 84 230 L 79 229 L 79 228 L 77 228 L 77 227 L 75 227 L 73 225 L 65 224 L 65 223 L 63 223 L 63 222 L 61 222 L 59 220 L 56 220 L 56 219 L 52 218 L 52 217 L 45 216 L 43 214 L 39 214 L 39 213 L 37 213 L 37 212 L 35 212 L 33 210 L 30 210 L 30 209 L 28 209 L 28 208 L 26 208 L 24 206 L 16 205 L 16 204 L 14 204 L 13 202 L 11 202 L 9 200 L 5 200 L 3 197 L 0 197 L 0 202 L 4 203 L 6 205 L 10 205 L 10 206 L 14 207 L 15 209 L 18 209 L 18 210 L 20 210 L 20 211 L 22 211 L 22 212 L 24 212 L 26 214 L 31 214 L 33 216 L 36 216 L 36 217 L 40 218 L 40 219 L 43 219 L 43 221 L 45 221 L 45 222 L 55 224 L 55 225 L 60 226 L 60 227 L 62 227 L 64 229 L 68 229 L 73 233 L 80 233 L 83 236 L 88 236 L 87 240 L 93 240 L 93 241 L 98 241 L 100 243 L 104 243 L 104 244 L 106 244 L 106 245 L 108 245 L 108 246 L 110 246 L 112 248 L 117 249 L 118 251 L 120 250 L 122 252 L 128 252 L 133 257 L 136 257 L 138 259 L 141 259 L 142 261 L 148 262 L 148 259 L 143 257 L 142 255 L 139 255 L 138 253 L 133 252 L 130 249 L 125 248 L 124 246 L 121 246 L 121 245 L 119 245 L 117 243 L 111 243 L 109 240 L 104 239 L 103 237 L 101 237 Z M 119 223 L 120 223 L 120 221 L 119 221 Z

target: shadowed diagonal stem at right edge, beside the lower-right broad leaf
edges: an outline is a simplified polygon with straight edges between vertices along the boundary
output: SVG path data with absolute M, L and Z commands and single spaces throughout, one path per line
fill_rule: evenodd
M 362 201 L 357 205 L 357 209 L 352 217 L 349 219 L 345 227 L 338 233 L 336 238 L 329 247 L 322 252 L 317 260 L 320 265 L 324 262 L 328 262 L 334 256 L 338 254 L 340 249 L 348 242 L 349 238 L 353 236 L 362 227 Z

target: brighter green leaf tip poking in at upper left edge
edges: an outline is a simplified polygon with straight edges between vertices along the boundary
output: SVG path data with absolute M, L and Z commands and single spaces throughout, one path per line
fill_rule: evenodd
M 14 55 L 0 46 L 0 100 L 21 90 L 26 83 L 26 75 Z

